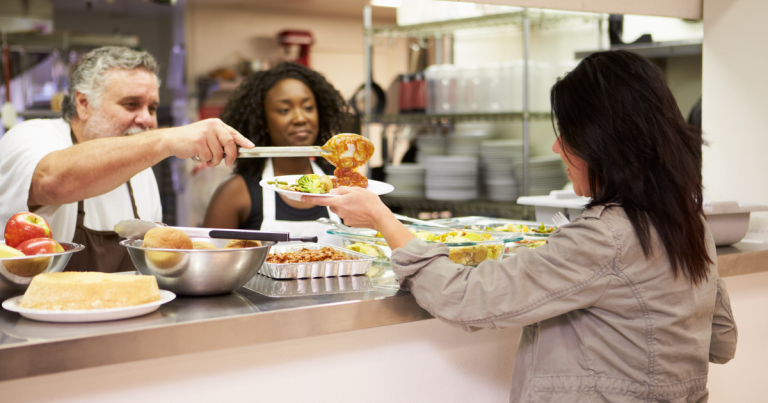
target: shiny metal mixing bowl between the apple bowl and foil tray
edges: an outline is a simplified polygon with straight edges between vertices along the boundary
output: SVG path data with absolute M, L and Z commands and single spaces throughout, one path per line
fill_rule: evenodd
M 228 239 L 192 238 L 206 241 L 217 248 Z M 270 246 L 239 249 L 157 249 L 143 248 L 142 240 L 126 239 L 120 245 L 128 248 L 136 270 L 153 275 L 157 285 L 179 295 L 217 295 L 232 292 L 248 282 L 267 260 Z

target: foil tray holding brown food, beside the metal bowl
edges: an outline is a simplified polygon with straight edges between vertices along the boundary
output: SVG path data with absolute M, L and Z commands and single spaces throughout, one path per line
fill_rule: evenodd
M 329 260 L 323 262 L 309 263 L 269 263 L 264 262 L 259 274 L 277 279 L 296 279 L 296 278 L 317 278 L 317 277 L 337 277 L 337 276 L 355 276 L 365 274 L 371 268 L 373 258 L 362 253 L 353 252 L 344 248 L 325 244 L 296 244 L 273 246 L 272 253 L 288 253 L 300 251 L 303 248 L 318 250 L 324 247 L 336 249 L 349 256 L 349 260 Z

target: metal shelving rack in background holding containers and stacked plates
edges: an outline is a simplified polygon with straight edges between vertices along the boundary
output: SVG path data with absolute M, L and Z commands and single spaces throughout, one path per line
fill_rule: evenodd
M 529 157 L 530 157 L 530 120 L 531 119 L 549 119 L 549 113 L 534 113 L 530 111 L 530 83 L 529 83 L 529 59 L 530 59 L 530 33 L 531 30 L 548 30 L 555 28 L 565 28 L 574 26 L 574 24 L 599 23 L 601 15 L 590 13 L 563 13 L 551 12 L 546 10 L 532 10 L 523 8 L 520 11 L 511 13 L 492 14 L 481 17 L 472 17 L 448 21 L 428 22 L 414 25 L 389 25 L 373 27 L 371 20 L 371 7 L 365 6 L 363 10 L 364 24 L 364 51 L 365 51 L 365 117 L 364 125 L 366 133 L 371 123 L 417 123 L 432 122 L 441 123 L 447 120 L 520 120 L 523 123 L 523 172 L 521 194 L 528 195 L 530 189 L 529 175 Z M 456 30 L 477 29 L 477 28 L 501 28 L 516 27 L 523 32 L 523 110 L 522 112 L 511 113 L 457 113 L 457 114 L 403 114 L 403 115 L 383 115 L 372 116 L 372 75 L 371 75 L 371 55 L 373 37 L 441 37 L 451 34 Z M 440 41 L 437 41 L 438 44 Z M 436 54 L 441 54 L 442 49 L 438 46 Z M 390 200 L 392 198 L 387 198 Z M 394 200 L 394 199 L 393 199 Z M 486 202 L 488 203 L 488 202 Z M 411 203 L 412 204 L 412 203 Z

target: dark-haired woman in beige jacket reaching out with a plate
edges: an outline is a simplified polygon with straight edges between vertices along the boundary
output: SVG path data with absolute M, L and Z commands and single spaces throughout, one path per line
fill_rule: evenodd
M 623 51 L 584 59 L 551 100 L 552 149 L 592 201 L 537 249 L 461 266 L 366 190 L 305 200 L 380 231 L 435 317 L 523 326 L 511 402 L 706 402 L 708 363 L 734 357 L 737 332 L 702 213 L 701 133 L 661 72 Z

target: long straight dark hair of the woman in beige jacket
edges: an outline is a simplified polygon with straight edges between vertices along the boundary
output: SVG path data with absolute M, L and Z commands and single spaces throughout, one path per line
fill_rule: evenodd
M 587 207 L 624 208 L 646 258 L 651 230 L 675 277 L 705 281 L 701 131 L 686 123 L 661 71 L 626 51 L 594 53 L 553 87 L 562 147 L 589 166 Z

